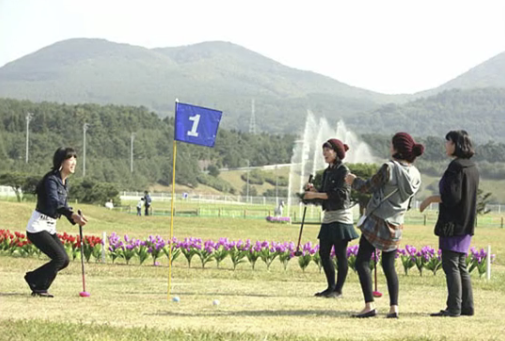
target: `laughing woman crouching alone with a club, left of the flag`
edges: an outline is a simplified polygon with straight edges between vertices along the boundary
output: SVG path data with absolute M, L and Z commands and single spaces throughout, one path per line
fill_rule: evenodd
M 67 178 L 75 172 L 76 157 L 74 149 L 59 148 L 54 153 L 51 171 L 44 175 L 35 190 L 37 206 L 26 226 L 26 235 L 50 261 L 26 273 L 25 281 L 32 296 L 53 297 L 48 289 L 57 273 L 68 266 L 68 255 L 56 234 L 56 220 L 63 215 L 73 225 L 87 223 L 86 218 L 75 213 L 67 203 Z

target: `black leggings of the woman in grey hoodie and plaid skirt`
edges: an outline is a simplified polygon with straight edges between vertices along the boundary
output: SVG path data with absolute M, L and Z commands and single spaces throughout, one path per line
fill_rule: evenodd
M 373 302 L 372 276 L 370 275 L 370 261 L 375 248 L 362 235 L 359 240 L 358 256 L 356 257 L 356 270 L 359 275 L 361 290 L 365 303 Z M 382 269 L 386 275 L 389 292 L 389 304 L 398 305 L 398 276 L 395 269 L 396 250 L 382 252 Z

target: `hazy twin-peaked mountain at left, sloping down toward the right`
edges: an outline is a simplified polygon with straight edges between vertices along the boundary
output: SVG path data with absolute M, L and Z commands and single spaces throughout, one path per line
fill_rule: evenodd
M 225 111 L 223 126 L 248 127 L 251 100 L 260 131 L 299 128 L 306 110 L 348 117 L 404 101 L 284 66 L 227 42 L 146 49 L 99 39 L 71 39 L 0 68 L 0 96 L 64 103 L 144 106 L 173 113 L 176 98 Z

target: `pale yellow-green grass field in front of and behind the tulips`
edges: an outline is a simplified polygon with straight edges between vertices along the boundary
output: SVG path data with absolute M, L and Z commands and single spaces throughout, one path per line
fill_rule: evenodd
M 32 203 L 0 202 L 0 229 L 24 231 Z M 117 232 L 134 237 L 169 235 L 167 217 L 138 218 L 105 208 L 82 205 L 89 217 L 87 234 Z M 203 239 L 296 241 L 297 225 L 263 220 L 183 218 L 174 221 L 175 235 Z M 60 232 L 76 228 L 61 220 Z M 309 225 L 305 241 L 316 241 L 318 226 Z M 71 262 L 54 282 L 54 299 L 33 298 L 23 281 L 26 271 L 41 265 L 38 258 L 0 256 L 0 340 L 505 340 L 505 229 L 479 228 L 472 245 L 490 244 L 497 260 L 492 280 L 472 273 L 476 316 L 430 318 L 445 305 L 445 277 L 412 269 L 400 280 L 400 319 L 386 320 L 388 295 L 379 274 L 380 316 L 350 318 L 363 298 L 357 275 L 350 271 L 342 299 L 319 299 L 324 275 L 314 264 L 302 272 L 296 260 L 287 271 L 277 260 L 270 271 L 263 263 L 252 271 L 248 263 L 232 270 L 229 259 L 220 269 L 209 263 L 188 269 L 183 258 L 174 263 L 172 295 L 167 298 L 168 268 L 137 264 L 86 264 L 90 298 L 80 298 L 80 263 Z M 355 244 L 355 242 L 353 243 Z M 436 246 L 431 226 L 406 226 L 402 247 Z M 218 299 L 220 305 L 213 305 Z M 500 303 L 502 302 L 502 303 Z

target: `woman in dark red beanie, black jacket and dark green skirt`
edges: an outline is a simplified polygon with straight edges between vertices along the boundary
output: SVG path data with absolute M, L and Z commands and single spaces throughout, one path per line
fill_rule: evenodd
M 308 184 L 304 199 L 322 200 L 324 219 L 319 231 L 319 255 L 323 265 L 328 287 L 316 293 L 319 297 L 340 297 L 349 266 L 347 264 L 347 245 L 358 238 L 354 230 L 351 210 L 351 187 L 345 177 L 349 169 L 343 164 L 345 152 L 349 149 L 340 140 L 330 139 L 323 144 L 323 156 L 328 168 L 323 173 L 321 188 Z M 335 267 L 330 258 L 334 247 L 337 258 L 338 275 L 335 283 Z

